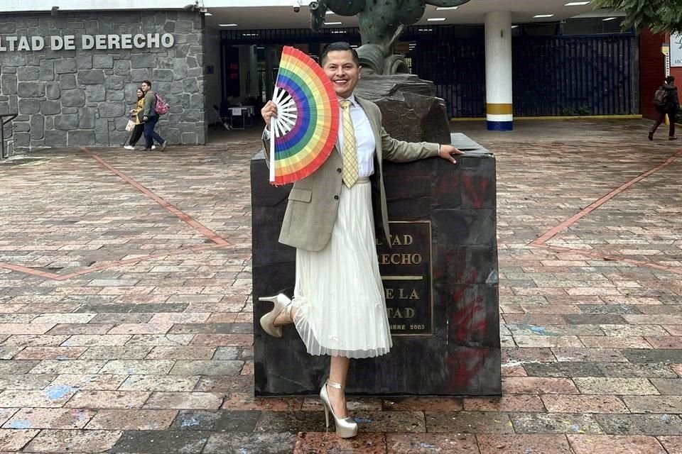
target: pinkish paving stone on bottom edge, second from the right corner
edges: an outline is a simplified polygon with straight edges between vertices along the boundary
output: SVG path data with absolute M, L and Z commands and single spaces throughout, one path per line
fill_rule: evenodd
M 656 438 L 648 436 L 569 435 L 575 454 L 666 454 Z

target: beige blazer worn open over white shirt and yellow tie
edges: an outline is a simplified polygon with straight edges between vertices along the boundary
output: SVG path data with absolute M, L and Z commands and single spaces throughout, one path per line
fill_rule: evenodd
M 386 209 L 383 160 L 411 162 L 424 157 L 438 156 L 437 143 L 408 143 L 395 140 L 381 126 L 382 116 L 377 104 L 355 96 L 357 103 L 369 117 L 377 153 L 374 156 L 372 184 L 376 197 L 372 197 L 374 218 L 381 222 L 384 234 L 389 238 L 389 216 Z M 263 140 L 266 162 L 269 161 L 269 140 Z M 341 194 L 341 153 L 335 147 L 323 165 L 312 175 L 293 184 L 288 197 L 286 213 L 279 235 L 279 242 L 304 250 L 322 250 L 332 236 L 332 228 L 339 210 Z M 379 206 L 377 206 L 379 205 Z M 381 218 L 379 220 L 380 211 Z

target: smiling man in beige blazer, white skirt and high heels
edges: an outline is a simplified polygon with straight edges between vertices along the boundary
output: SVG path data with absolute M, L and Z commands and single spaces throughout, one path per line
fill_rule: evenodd
M 361 67 L 348 43 L 330 44 L 320 62 L 339 99 L 339 138 L 325 163 L 291 189 L 279 242 L 296 248 L 296 288 L 293 300 L 284 294 L 261 298 L 274 303 L 261 327 L 281 337 L 281 327 L 294 323 L 310 355 L 330 355 L 320 399 L 325 416 L 331 412 L 335 420 L 337 436 L 350 438 L 357 435 L 344 393 L 350 360 L 385 355 L 393 345 L 372 213 L 374 187 L 374 208 L 389 238 L 382 161 L 440 156 L 455 163 L 453 155 L 462 152 L 391 138 L 381 127 L 379 107 L 353 94 Z M 268 136 L 276 105 L 269 101 L 261 115 Z M 264 146 L 269 153 L 269 140 Z

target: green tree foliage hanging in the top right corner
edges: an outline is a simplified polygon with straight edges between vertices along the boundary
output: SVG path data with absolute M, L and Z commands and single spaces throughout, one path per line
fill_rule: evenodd
M 592 0 L 597 8 L 624 11 L 623 28 L 682 33 L 682 0 Z

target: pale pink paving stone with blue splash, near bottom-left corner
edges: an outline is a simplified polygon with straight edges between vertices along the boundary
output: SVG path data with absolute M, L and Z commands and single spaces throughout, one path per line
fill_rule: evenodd
M 95 412 L 88 409 L 21 409 L 4 428 L 84 428 Z

